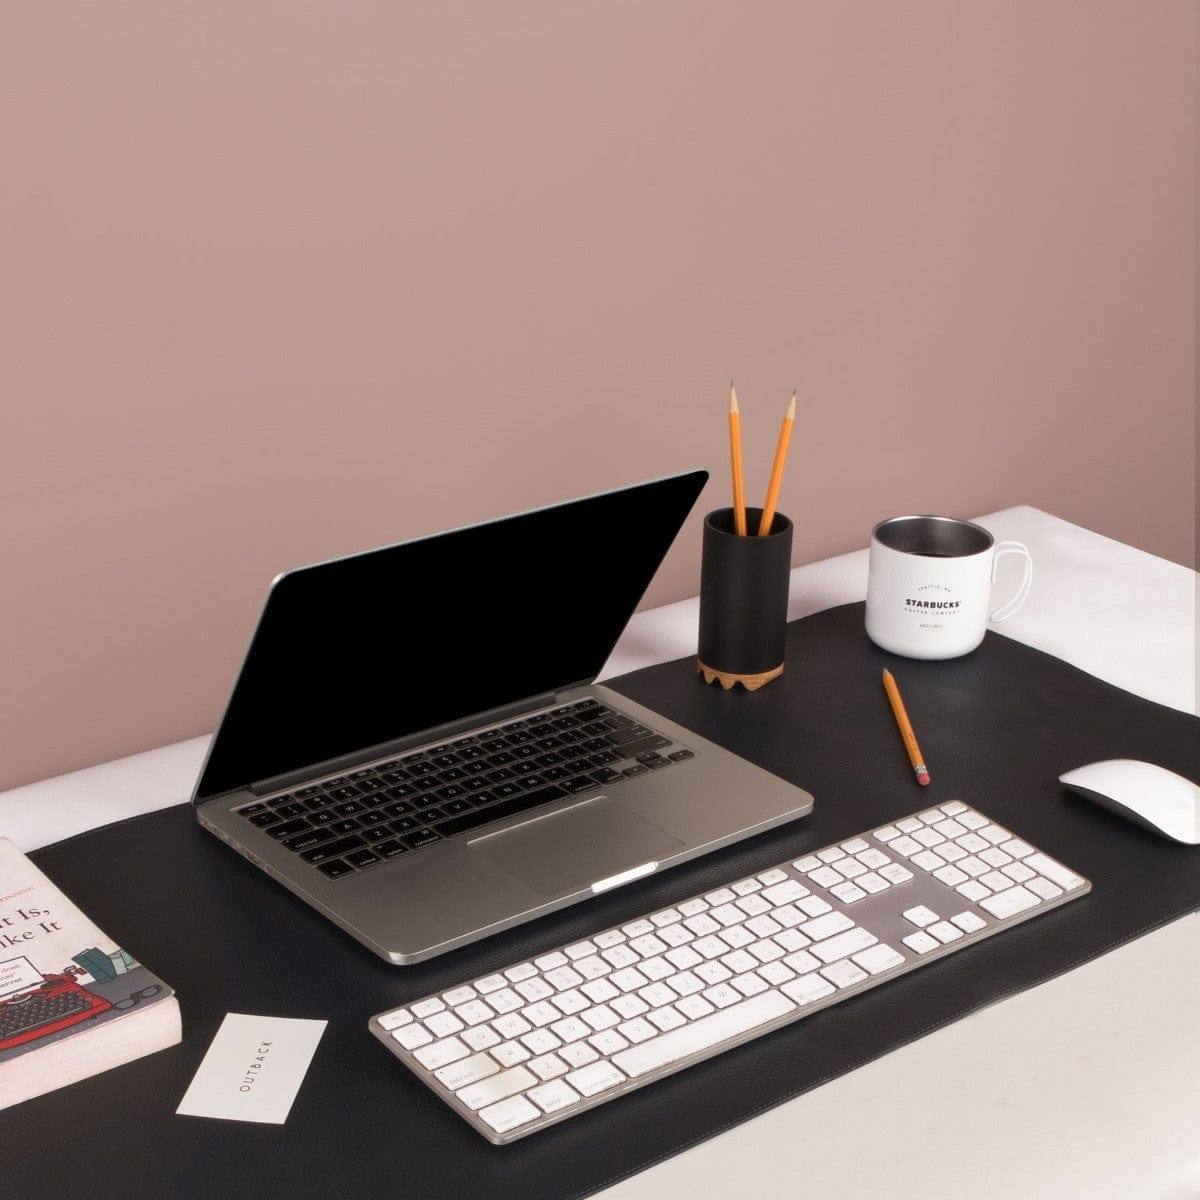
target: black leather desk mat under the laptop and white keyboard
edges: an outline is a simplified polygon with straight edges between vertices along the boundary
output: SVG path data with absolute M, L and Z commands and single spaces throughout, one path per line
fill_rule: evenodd
M 928 756 L 926 790 L 912 781 L 883 665 L 896 671 Z M 616 686 L 804 785 L 817 798 L 812 815 L 408 970 L 370 956 L 184 808 L 36 853 L 103 929 L 178 988 L 185 1037 L 0 1112 L 7 1200 L 581 1196 L 1200 906 L 1200 852 L 1056 782 L 1108 757 L 1200 779 L 1200 722 L 1018 642 L 989 634 L 958 661 L 895 660 L 868 643 L 862 605 L 850 605 L 794 623 L 785 674 L 757 695 L 703 686 L 691 660 Z M 365 1030 L 390 1004 L 955 797 L 1082 871 L 1092 894 L 504 1148 L 484 1142 Z M 174 1115 L 227 1012 L 329 1019 L 286 1126 Z

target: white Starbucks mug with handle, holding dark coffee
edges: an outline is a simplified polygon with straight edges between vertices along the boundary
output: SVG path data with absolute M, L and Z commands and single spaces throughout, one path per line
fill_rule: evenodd
M 995 612 L 991 586 L 1004 554 L 1025 572 L 1016 594 Z M 1033 558 L 1019 541 L 996 541 L 983 526 L 954 517 L 892 517 L 871 530 L 866 634 L 908 659 L 956 659 L 982 641 L 989 622 L 1025 604 Z

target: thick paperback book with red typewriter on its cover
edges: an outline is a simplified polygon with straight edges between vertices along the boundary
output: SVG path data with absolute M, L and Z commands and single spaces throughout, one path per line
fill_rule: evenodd
M 0 838 L 0 1109 L 180 1037 L 174 991 Z

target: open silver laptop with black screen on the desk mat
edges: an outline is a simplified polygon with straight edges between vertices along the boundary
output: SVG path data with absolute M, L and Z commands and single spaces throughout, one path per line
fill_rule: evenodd
M 595 683 L 707 479 L 278 576 L 200 824 L 407 965 L 806 815 L 808 792 Z

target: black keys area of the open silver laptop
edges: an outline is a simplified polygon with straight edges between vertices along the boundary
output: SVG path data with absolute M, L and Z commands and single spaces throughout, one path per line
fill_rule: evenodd
M 337 880 L 691 757 L 631 716 L 581 700 L 238 811 Z

